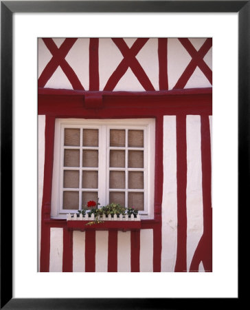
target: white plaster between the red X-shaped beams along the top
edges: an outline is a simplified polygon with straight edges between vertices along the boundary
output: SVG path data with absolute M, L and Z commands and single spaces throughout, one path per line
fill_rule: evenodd
M 136 38 L 125 38 L 124 41 L 130 48 Z M 56 45 L 60 47 L 62 39 L 54 39 Z M 198 50 L 205 42 L 205 38 L 191 38 L 194 48 Z M 47 50 L 42 39 L 38 39 L 38 76 L 41 75 L 46 64 L 52 58 L 52 54 Z M 79 38 L 65 57 L 71 68 L 76 72 L 80 83 L 85 90 L 89 90 L 89 39 Z M 109 38 L 99 40 L 99 76 L 100 90 L 103 90 L 106 82 L 117 66 L 122 61 L 123 56 L 115 43 Z M 146 72 L 150 82 L 159 90 L 159 59 L 158 59 L 158 39 L 150 38 L 143 48 L 136 55 L 141 68 Z M 168 39 L 168 84 L 171 90 L 177 83 L 179 77 L 191 60 L 190 54 L 183 48 L 178 39 Z M 205 63 L 212 69 L 212 48 L 204 57 Z M 62 69 L 58 67 L 56 72 L 47 81 L 45 87 L 72 89 L 71 83 Z M 194 70 L 185 88 L 212 87 L 203 72 L 199 68 Z M 144 91 L 135 74 L 128 68 L 120 81 L 115 86 L 114 91 Z

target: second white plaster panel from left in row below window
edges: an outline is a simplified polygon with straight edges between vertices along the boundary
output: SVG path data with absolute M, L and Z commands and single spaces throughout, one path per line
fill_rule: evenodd
M 85 232 L 73 231 L 73 271 L 85 271 Z

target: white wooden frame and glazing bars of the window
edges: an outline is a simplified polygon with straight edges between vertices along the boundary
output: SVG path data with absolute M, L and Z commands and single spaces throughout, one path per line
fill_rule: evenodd
M 65 147 L 64 144 L 64 128 L 86 128 L 99 130 L 99 145 L 98 147 L 82 147 L 82 130 L 80 130 L 80 147 Z M 121 129 L 126 130 L 126 146 L 125 147 L 110 147 L 109 146 L 109 130 Z M 144 150 L 144 168 L 128 168 L 128 130 L 144 130 L 144 147 L 129 147 L 131 150 Z M 83 170 L 98 170 L 98 189 L 87 189 L 88 192 L 97 192 L 100 205 L 106 205 L 109 202 L 109 170 L 125 171 L 143 171 L 144 172 L 144 189 L 112 189 L 111 192 L 125 192 L 125 201 L 128 200 L 128 192 L 145 192 L 144 194 L 144 211 L 139 211 L 141 219 L 154 218 L 154 196 L 155 196 L 155 118 L 122 118 L 122 119 L 86 119 L 86 118 L 56 118 L 55 135 L 54 135 L 54 166 L 52 176 L 52 218 L 66 218 L 67 213 L 78 213 L 77 210 L 62 209 L 63 195 L 63 149 L 99 149 L 98 168 L 84 167 Z M 125 150 L 125 168 L 109 167 L 109 150 L 120 149 Z M 60 158 L 58 161 L 57 158 Z M 80 152 L 80 162 L 82 161 L 82 152 Z M 68 167 L 72 170 L 75 168 Z M 80 170 L 81 168 L 79 168 Z M 126 183 L 128 178 L 126 177 Z M 80 193 L 82 178 L 80 177 Z M 102 186 L 104 185 L 104 186 Z M 69 189 L 70 191 L 79 189 Z M 79 205 L 81 205 L 81 197 Z M 131 207 L 131 206 L 130 206 Z M 136 206 L 135 206 L 136 207 Z

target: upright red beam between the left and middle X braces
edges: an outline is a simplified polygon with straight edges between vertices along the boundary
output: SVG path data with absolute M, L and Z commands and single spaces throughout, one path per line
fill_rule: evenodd
M 89 39 L 89 90 L 99 90 L 99 39 Z

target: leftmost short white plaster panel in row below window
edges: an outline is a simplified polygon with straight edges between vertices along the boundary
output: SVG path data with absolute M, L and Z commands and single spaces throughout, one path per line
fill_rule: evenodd
M 62 272 L 63 229 L 50 229 L 49 271 Z

